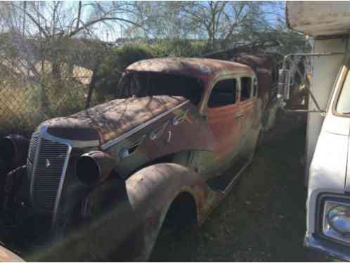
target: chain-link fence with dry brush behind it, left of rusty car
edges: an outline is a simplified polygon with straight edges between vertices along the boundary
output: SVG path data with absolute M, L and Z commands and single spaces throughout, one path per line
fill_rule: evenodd
M 46 119 L 96 104 L 87 103 L 89 89 L 107 49 L 82 41 L 54 50 L 39 44 L 11 41 L 0 52 L 0 135 L 30 135 Z

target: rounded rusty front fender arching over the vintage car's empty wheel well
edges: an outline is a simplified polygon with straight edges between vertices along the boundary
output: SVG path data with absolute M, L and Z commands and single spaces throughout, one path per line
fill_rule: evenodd
M 199 174 L 174 163 L 159 163 L 139 170 L 129 177 L 126 189 L 133 210 L 143 215 L 142 237 L 135 254 L 143 261 L 150 256 L 170 205 L 179 194 L 193 197 L 198 224 L 204 220 L 209 209 L 207 200 L 212 196 Z

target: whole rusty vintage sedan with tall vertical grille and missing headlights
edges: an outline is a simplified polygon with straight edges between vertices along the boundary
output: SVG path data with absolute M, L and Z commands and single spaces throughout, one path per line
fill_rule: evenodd
M 261 140 L 273 78 L 257 72 L 142 60 L 116 100 L 5 137 L 2 243 L 25 259 L 146 260 L 162 226 L 202 224 Z

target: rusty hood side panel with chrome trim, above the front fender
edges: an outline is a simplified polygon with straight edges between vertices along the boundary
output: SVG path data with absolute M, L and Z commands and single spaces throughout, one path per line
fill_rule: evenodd
M 115 144 L 108 153 L 115 157 L 119 175 L 128 175 L 144 163 L 181 151 L 213 151 L 214 135 L 197 108 L 189 103 Z

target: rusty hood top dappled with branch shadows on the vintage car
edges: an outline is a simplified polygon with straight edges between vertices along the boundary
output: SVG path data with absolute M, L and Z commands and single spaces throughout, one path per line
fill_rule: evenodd
M 41 123 L 49 135 L 100 145 L 185 102 L 184 97 L 129 97 L 99 104 L 77 114 Z

